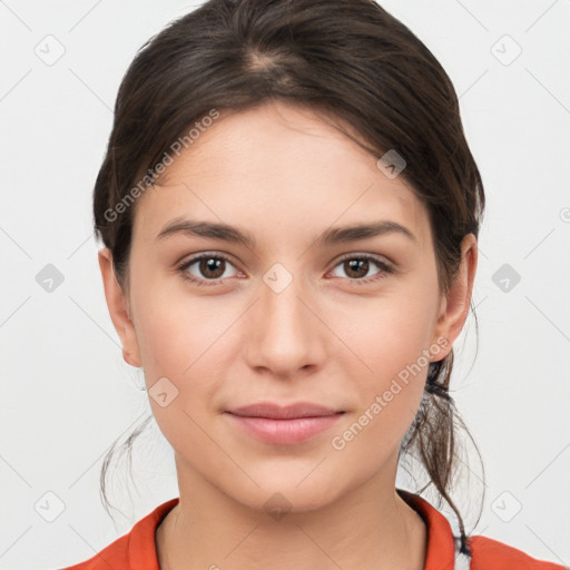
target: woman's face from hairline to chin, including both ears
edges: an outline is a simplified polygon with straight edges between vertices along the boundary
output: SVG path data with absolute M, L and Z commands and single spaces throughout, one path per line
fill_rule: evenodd
M 138 198 L 125 297 L 100 254 L 179 476 L 257 509 L 279 492 L 298 511 L 371 478 L 393 485 L 429 362 L 466 316 L 475 249 L 445 297 L 428 212 L 377 158 L 308 109 L 223 114 Z M 184 222 L 194 230 L 173 229 Z M 261 402 L 336 414 L 228 413 Z

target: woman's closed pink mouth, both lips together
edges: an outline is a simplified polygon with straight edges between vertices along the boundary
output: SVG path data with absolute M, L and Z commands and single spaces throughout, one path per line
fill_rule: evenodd
M 344 411 L 309 402 L 279 406 L 262 402 L 225 412 L 245 433 L 274 445 L 302 443 L 332 428 Z

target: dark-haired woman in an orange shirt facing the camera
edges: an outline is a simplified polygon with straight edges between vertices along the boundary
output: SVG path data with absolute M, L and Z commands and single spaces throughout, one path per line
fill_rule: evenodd
M 94 213 L 179 498 L 72 568 L 561 568 L 451 498 L 483 207 L 451 81 L 375 2 L 210 0 L 153 38 Z

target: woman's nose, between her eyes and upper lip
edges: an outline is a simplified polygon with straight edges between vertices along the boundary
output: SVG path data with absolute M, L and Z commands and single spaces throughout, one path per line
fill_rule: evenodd
M 261 283 L 259 298 L 246 325 L 245 352 L 252 368 L 292 379 L 322 366 L 326 326 L 301 278 L 279 288 L 271 281 Z

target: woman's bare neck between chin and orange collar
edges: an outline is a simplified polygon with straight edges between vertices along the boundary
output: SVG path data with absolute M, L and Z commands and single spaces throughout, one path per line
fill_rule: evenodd
M 273 518 L 178 461 L 177 469 L 180 501 L 156 533 L 161 570 L 424 568 L 425 524 L 397 495 L 395 473 L 373 476 L 317 509 Z

